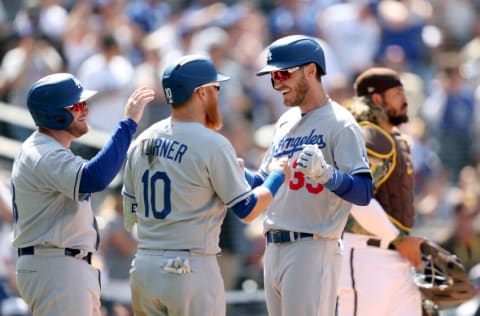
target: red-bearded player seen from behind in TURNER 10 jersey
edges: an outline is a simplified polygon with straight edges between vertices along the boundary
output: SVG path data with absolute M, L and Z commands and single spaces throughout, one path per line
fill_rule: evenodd
M 220 83 L 212 61 L 186 55 L 162 78 L 172 115 L 131 146 L 124 176 L 124 220 L 137 221 L 138 249 L 130 270 L 135 315 L 225 315 L 216 255 L 226 207 L 245 222 L 256 218 L 289 180 L 278 159 L 254 190 L 233 146 L 217 133 Z

